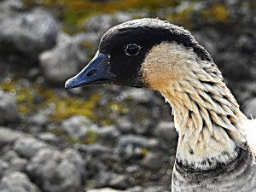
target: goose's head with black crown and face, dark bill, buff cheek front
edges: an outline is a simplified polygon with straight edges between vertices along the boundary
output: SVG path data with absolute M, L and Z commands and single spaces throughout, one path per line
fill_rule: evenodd
M 113 26 L 102 36 L 95 57 L 67 80 L 65 88 L 108 83 L 160 90 L 166 86 L 166 75 L 169 81 L 183 70 L 184 66 L 176 65 L 178 56 L 183 55 L 173 55 L 172 68 L 166 65 L 170 62 L 167 55 L 176 53 L 177 47 L 192 50 L 203 61 L 212 60 L 190 32 L 168 21 L 147 18 Z

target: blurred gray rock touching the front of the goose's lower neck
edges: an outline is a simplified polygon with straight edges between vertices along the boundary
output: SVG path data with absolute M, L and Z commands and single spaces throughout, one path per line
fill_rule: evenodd
M 173 122 L 161 121 L 154 130 L 154 136 L 166 141 L 166 143 L 177 143 L 177 131 Z

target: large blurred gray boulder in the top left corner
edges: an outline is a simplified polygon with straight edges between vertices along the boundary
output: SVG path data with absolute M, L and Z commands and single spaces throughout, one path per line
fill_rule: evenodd
M 0 49 L 36 60 L 39 53 L 54 46 L 58 30 L 53 16 L 42 9 L 9 15 L 0 22 Z

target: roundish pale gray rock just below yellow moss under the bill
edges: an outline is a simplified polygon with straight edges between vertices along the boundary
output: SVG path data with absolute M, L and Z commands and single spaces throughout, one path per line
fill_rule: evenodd
M 69 137 L 81 138 L 86 136 L 86 132 L 94 126 L 89 126 L 91 124 L 90 119 L 84 116 L 73 116 L 62 122 L 61 127 L 67 132 Z M 97 129 L 97 127 L 95 127 Z

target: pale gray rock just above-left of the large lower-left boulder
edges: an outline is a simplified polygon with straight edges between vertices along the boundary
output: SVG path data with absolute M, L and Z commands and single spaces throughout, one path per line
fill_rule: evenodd
M 49 148 L 49 146 L 41 142 L 40 140 L 29 137 L 20 138 L 15 142 L 15 151 L 20 154 L 20 156 L 26 157 L 28 159 L 32 158 L 38 151 L 42 148 Z

